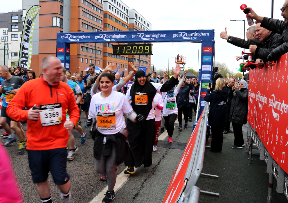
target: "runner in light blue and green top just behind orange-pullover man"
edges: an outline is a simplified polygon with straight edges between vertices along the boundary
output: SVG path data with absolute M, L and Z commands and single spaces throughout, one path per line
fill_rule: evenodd
M 82 99 L 81 89 L 80 89 L 79 85 L 77 85 L 76 82 L 73 82 L 72 80 L 68 80 L 68 78 L 71 79 L 71 74 L 68 71 L 66 71 L 66 69 L 64 67 L 62 67 L 62 71 L 63 71 L 63 73 L 61 76 L 61 80 L 65 83 L 67 83 L 69 85 L 69 87 L 73 90 L 74 96 L 77 96 L 76 104 L 79 105 L 80 100 Z M 80 116 L 80 114 L 79 114 L 79 116 Z M 69 114 L 66 113 L 66 121 L 69 121 L 69 119 L 70 119 Z M 80 125 L 78 125 L 78 123 L 76 124 L 75 129 L 81 135 L 81 144 L 84 144 L 84 142 L 86 140 L 86 133 L 83 132 L 82 127 Z M 68 133 L 69 133 L 68 144 L 69 144 L 70 151 L 68 152 L 67 160 L 72 161 L 75 158 L 76 152 L 78 151 L 78 147 L 75 146 L 75 138 L 72 134 L 72 130 L 71 131 L 69 130 Z

